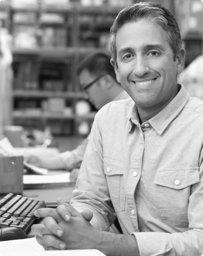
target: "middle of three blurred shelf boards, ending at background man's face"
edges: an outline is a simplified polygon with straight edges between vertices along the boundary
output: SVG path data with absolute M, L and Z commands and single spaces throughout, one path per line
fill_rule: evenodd
M 48 98 L 48 97 L 63 97 L 65 99 L 78 99 L 84 98 L 84 93 L 78 92 L 67 92 L 67 91 L 24 91 L 24 90 L 14 90 L 13 97 L 32 97 L 32 98 Z

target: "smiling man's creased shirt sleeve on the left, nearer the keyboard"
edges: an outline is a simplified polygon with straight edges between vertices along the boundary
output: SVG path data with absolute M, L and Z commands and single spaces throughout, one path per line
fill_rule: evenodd
M 93 212 L 91 224 L 102 231 L 108 231 L 116 218 L 104 174 L 102 125 L 99 113 L 95 117 L 89 143 L 80 168 L 73 199 L 70 204 L 78 211 L 90 209 Z

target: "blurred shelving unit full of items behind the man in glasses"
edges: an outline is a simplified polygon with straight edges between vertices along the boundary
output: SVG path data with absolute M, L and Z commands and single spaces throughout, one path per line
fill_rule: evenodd
M 79 1 L 48 5 L 43 0 L 23 6 L 7 0 L 4 5 L 5 26 L 13 35 L 13 125 L 27 130 L 49 125 L 57 135 L 78 134 L 81 122 L 90 127 L 96 109 L 90 105 L 90 113 L 76 113 L 78 100 L 87 99 L 75 71 L 87 54 L 109 52 L 107 34 L 122 7 L 83 6 Z M 53 111 L 55 100 L 62 107 Z

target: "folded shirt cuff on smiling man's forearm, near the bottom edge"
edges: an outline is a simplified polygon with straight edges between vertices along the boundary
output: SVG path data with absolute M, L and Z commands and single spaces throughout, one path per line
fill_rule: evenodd
M 136 237 L 140 256 L 176 256 L 169 235 L 162 232 L 137 232 Z

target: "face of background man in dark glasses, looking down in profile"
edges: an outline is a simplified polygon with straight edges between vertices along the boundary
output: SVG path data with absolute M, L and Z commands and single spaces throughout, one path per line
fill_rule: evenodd
M 92 74 L 89 73 L 89 71 L 83 70 L 79 75 L 81 88 L 85 88 L 86 85 L 90 84 L 96 78 L 97 76 L 93 76 Z M 85 90 L 90 102 L 93 105 L 95 105 L 95 108 L 98 110 L 109 102 L 107 97 L 108 91 L 105 90 L 105 88 L 100 85 L 102 78 L 103 77 L 96 80 L 95 83 L 90 85 L 90 87 L 88 87 Z

